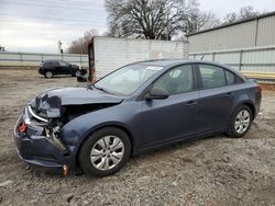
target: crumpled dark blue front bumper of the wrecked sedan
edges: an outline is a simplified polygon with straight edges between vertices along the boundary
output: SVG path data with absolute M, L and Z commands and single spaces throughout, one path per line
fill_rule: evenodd
M 58 169 L 72 165 L 69 151 L 61 150 L 53 145 L 45 134 L 45 126 L 36 124 L 25 113 L 26 110 L 20 116 L 13 133 L 19 157 L 38 167 Z M 18 128 L 22 123 L 28 124 L 25 133 L 19 133 Z

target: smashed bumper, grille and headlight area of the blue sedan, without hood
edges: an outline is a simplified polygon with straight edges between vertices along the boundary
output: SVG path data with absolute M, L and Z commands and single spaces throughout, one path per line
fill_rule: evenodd
M 14 128 L 20 158 L 47 168 L 67 165 L 69 152 L 59 137 L 59 130 L 58 125 L 53 127 L 51 118 L 36 115 L 31 105 L 28 105 Z

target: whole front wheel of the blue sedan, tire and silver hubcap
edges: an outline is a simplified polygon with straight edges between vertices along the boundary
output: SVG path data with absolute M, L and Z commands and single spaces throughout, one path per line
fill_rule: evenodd
M 131 142 L 123 130 L 116 127 L 102 128 L 84 142 L 79 164 L 85 173 L 107 176 L 125 164 L 130 151 Z

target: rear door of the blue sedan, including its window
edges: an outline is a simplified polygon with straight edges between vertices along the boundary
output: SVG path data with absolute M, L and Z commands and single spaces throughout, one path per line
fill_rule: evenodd
M 198 64 L 199 101 L 198 131 L 207 133 L 228 127 L 234 92 L 227 90 L 224 69 Z

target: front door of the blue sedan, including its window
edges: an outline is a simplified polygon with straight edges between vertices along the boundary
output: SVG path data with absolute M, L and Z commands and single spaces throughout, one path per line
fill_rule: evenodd
M 188 137 L 197 130 L 198 91 L 191 65 L 175 67 L 152 87 L 169 94 L 164 100 L 143 100 L 139 115 L 143 148 Z

